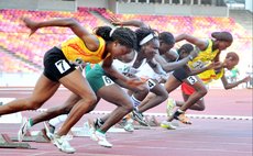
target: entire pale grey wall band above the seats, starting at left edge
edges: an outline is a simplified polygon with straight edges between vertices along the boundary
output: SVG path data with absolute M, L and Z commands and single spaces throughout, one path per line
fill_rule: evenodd
M 116 0 L 0 0 L 0 9 L 76 11 L 78 7 L 106 8 L 121 14 L 229 15 L 227 7 L 210 4 L 134 3 Z

